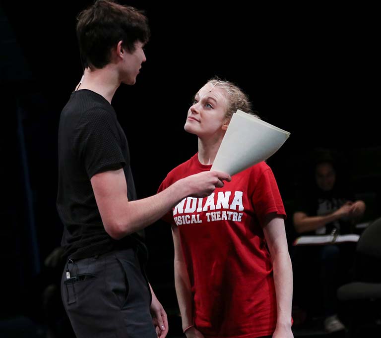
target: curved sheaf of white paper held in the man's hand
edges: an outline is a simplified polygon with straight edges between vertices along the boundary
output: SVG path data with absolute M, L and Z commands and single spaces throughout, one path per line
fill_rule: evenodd
M 230 120 L 211 170 L 234 175 L 268 159 L 289 136 L 288 131 L 237 110 Z

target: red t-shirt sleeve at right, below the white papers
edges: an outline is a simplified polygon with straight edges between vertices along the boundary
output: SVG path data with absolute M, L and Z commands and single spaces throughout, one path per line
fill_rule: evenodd
M 252 194 L 252 202 L 261 224 L 264 217 L 270 213 L 286 217 L 278 185 L 270 168 L 263 171 L 257 180 Z

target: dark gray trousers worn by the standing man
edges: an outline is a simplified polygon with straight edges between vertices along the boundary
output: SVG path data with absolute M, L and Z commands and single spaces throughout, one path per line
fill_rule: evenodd
M 77 338 L 157 337 L 151 292 L 134 249 L 68 260 L 61 295 Z

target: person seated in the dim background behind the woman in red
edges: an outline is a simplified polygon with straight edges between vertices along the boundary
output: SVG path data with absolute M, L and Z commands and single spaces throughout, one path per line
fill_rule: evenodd
M 300 196 L 293 215 L 296 232 L 303 235 L 353 232 L 354 225 L 365 212 L 365 203 L 361 200 L 355 201 L 341 187 L 337 180 L 335 162 L 330 155 L 320 157 L 315 162 L 314 174 L 315 187 Z M 328 332 L 344 329 L 336 315 L 336 290 L 346 282 L 345 278 L 349 278 L 348 271 L 353 265 L 353 257 L 353 245 L 329 244 L 294 249 L 295 265 L 300 264 L 303 269 L 312 267 L 314 273 L 318 274 L 317 285 L 321 286 L 323 293 L 323 323 Z M 314 292 L 309 283 L 302 285 L 308 292 Z

